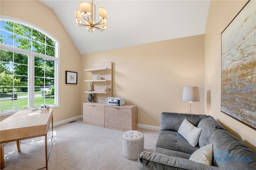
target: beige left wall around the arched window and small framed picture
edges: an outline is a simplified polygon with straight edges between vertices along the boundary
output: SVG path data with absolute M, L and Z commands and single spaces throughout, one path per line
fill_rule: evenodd
M 81 115 L 80 88 L 78 85 L 65 84 L 65 71 L 78 72 L 81 68 L 81 55 L 57 16 L 47 6 L 39 1 L 0 1 L 0 14 L 10 16 L 35 24 L 49 32 L 60 42 L 60 107 L 54 109 L 54 122 Z M 1 117 L 3 120 L 6 117 Z

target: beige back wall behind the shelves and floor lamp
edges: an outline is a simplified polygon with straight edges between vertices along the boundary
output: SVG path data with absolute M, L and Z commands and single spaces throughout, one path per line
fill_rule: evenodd
M 113 62 L 113 96 L 138 106 L 139 124 L 160 126 L 162 112 L 188 113 L 184 86 L 199 87 L 192 113 L 204 114 L 204 35 L 82 55 L 82 80 L 90 79 L 84 69 L 91 63 L 105 61 Z M 81 93 L 88 90 L 84 83 Z M 87 102 L 87 94 L 81 99 Z

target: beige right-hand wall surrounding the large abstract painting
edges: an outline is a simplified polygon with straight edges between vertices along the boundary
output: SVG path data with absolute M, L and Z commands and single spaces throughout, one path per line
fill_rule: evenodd
M 221 32 L 246 2 L 214 0 L 210 3 L 205 32 L 205 113 L 212 115 L 234 136 L 256 150 L 256 131 L 220 112 Z

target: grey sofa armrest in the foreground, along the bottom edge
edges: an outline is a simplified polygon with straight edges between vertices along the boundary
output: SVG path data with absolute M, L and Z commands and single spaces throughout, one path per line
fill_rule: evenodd
M 143 151 L 138 156 L 138 170 L 223 170 L 192 160 Z

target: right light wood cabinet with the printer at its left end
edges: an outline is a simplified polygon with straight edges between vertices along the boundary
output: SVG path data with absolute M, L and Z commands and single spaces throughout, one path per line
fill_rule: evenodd
M 105 128 L 115 130 L 135 130 L 137 128 L 137 106 L 105 105 Z

